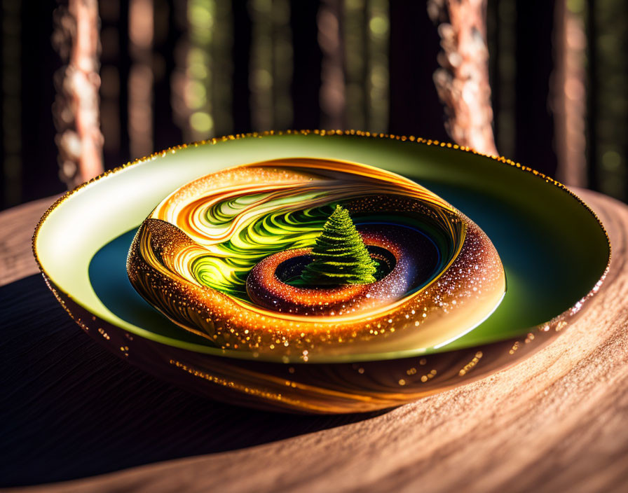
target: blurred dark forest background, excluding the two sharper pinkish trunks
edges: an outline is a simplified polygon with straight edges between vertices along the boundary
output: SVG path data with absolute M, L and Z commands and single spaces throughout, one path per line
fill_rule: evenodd
M 259 130 L 452 140 L 433 79 L 441 39 L 423 0 L 90 3 L 104 169 Z M 68 8 L 2 0 L 3 209 L 76 183 L 76 142 L 62 138 Z M 486 41 L 498 152 L 627 201 L 628 2 L 489 0 Z

